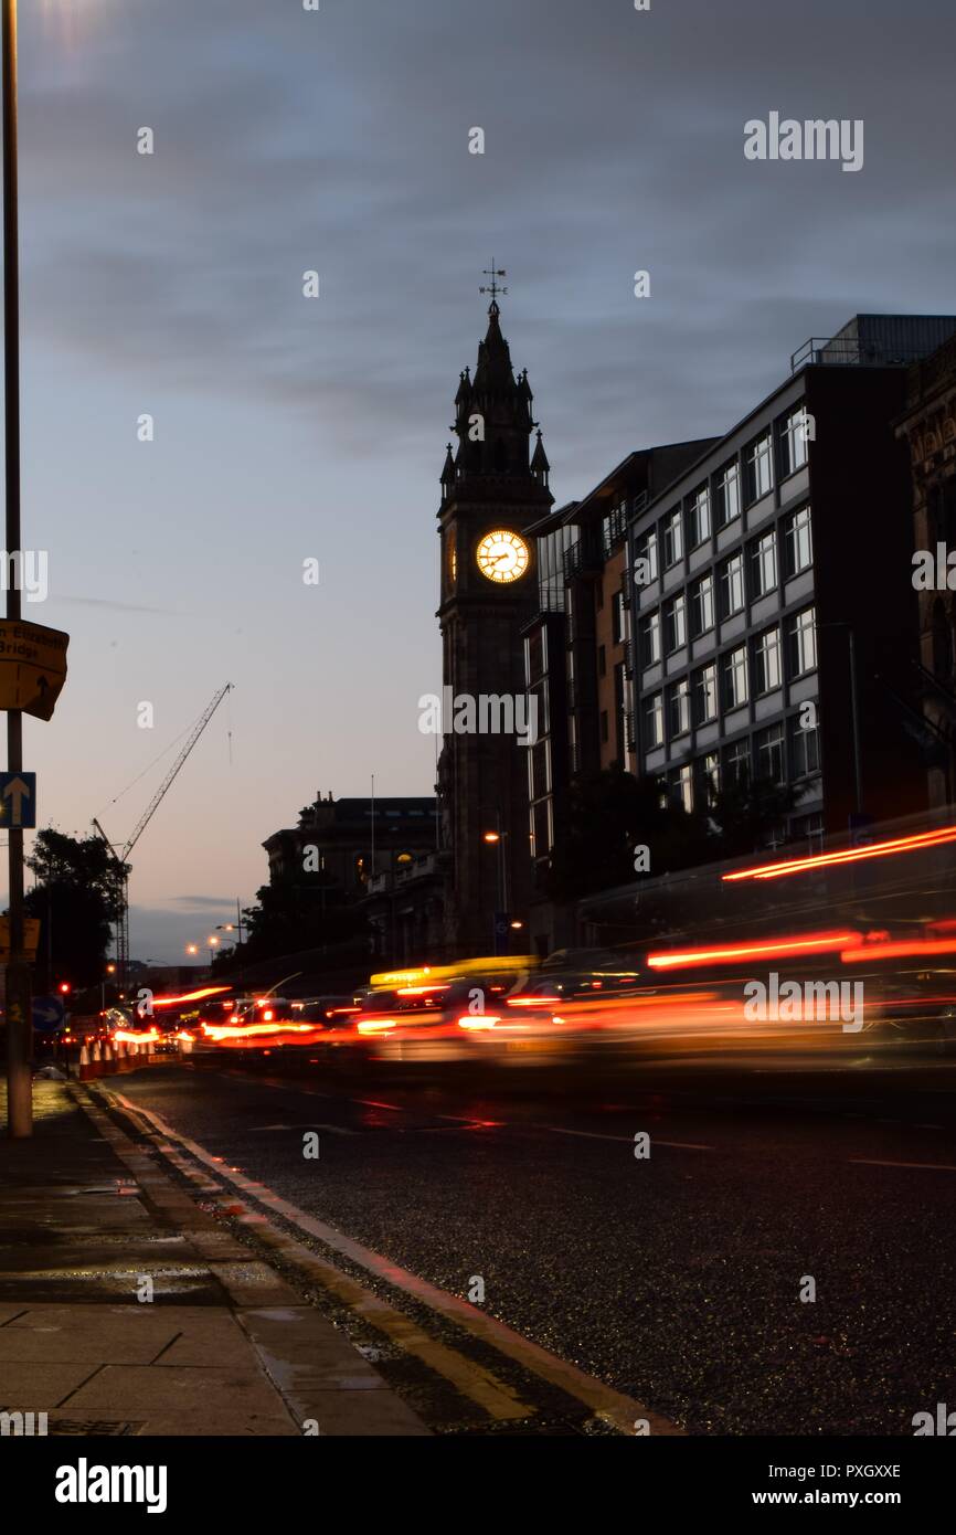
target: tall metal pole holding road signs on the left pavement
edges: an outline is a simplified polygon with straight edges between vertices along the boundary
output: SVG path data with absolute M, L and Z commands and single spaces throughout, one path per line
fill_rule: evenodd
M 3 421 L 6 430 L 6 553 L 20 548 L 20 239 L 17 226 L 17 0 L 3 0 Z M 8 583 L 6 617 L 20 619 Z M 6 714 L 6 766 L 23 771 L 23 715 Z M 34 1133 L 29 966 L 23 953 L 23 830 L 9 830 L 9 961 L 6 966 L 8 1130 Z

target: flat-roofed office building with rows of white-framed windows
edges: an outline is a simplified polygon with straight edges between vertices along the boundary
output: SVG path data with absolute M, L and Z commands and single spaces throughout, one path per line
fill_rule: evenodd
M 948 316 L 858 315 L 628 527 L 628 766 L 687 810 L 789 786 L 769 844 L 925 804 L 896 705 L 918 642 L 907 367 Z

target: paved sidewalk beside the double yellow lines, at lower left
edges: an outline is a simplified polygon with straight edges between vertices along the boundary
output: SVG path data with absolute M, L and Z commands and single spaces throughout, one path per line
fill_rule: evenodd
M 3 1108 L 0 1412 L 83 1435 L 428 1432 L 83 1088 L 35 1082 L 31 1141 Z

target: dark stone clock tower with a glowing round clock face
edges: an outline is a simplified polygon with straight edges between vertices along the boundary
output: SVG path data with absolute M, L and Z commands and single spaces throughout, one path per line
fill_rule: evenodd
M 536 717 L 525 694 L 523 626 L 537 612 L 536 540 L 549 511 L 548 457 L 528 373 L 514 376 L 493 270 L 488 333 L 474 378 L 460 375 L 442 470 L 442 755 L 439 801 L 447 942 L 454 955 L 505 952 L 531 892 L 528 754 Z M 543 721 L 540 721 L 543 728 Z M 500 924 L 499 924 L 500 927 Z M 517 952 L 523 939 L 513 947 Z

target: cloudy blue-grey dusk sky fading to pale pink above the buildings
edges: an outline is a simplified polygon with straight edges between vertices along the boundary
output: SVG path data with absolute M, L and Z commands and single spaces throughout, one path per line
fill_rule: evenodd
M 431 792 L 491 258 L 559 502 L 721 433 L 850 315 L 956 312 L 954 31 L 942 0 L 21 0 L 23 611 L 71 634 L 25 721 L 41 824 L 124 840 L 236 688 L 134 855 L 135 958 L 249 904 L 316 791 Z M 862 170 L 747 161 L 772 111 L 864 120 Z

